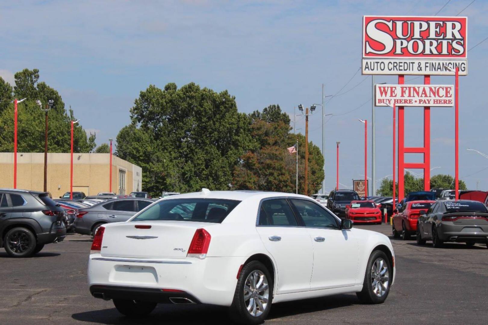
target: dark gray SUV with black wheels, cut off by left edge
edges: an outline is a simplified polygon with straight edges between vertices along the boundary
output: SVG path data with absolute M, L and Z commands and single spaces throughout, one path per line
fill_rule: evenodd
M 47 192 L 0 189 L 0 247 L 12 257 L 39 253 L 64 240 L 64 210 Z

